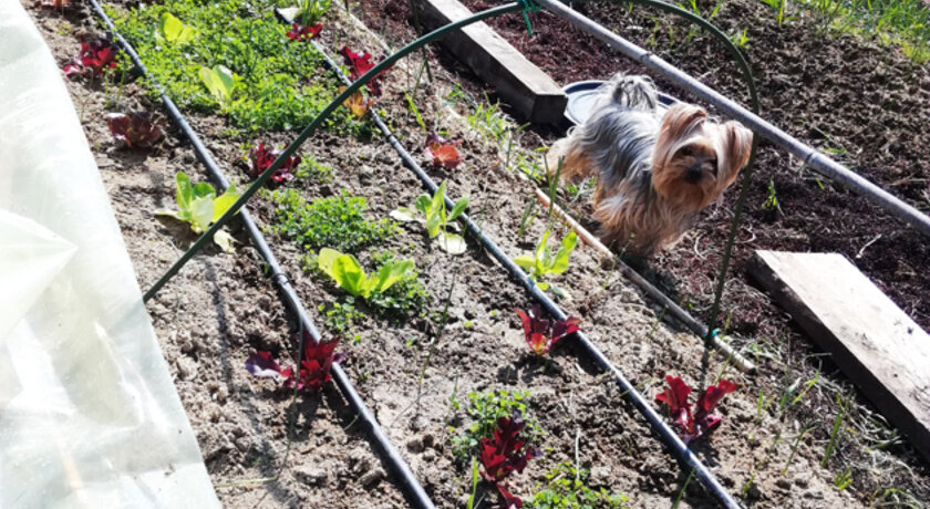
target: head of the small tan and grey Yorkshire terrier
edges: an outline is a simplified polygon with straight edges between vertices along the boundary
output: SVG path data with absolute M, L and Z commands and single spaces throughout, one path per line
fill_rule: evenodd
M 696 211 L 716 199 L 750 159 L 753 133 L 738 122 L 717 124 L 698 106 L 670 107 L 652 155 L 652 185 L 666 200 Z

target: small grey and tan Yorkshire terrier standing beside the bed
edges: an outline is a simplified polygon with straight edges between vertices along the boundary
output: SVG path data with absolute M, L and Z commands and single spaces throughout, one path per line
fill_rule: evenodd
M 699 106 L 659 107 L 645 76 L 614 75 L 590 118 L 552 145 L 550 174 L 598 177 L 591 197 L 607 243 L 650 256 L 674 243 L 750 158 L 753 133 Z M 561 168 L 559 170 L 559 167 Z

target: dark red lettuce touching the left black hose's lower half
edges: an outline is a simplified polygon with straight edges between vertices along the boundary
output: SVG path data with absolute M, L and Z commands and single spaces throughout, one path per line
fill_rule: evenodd
M 293 387 L 302 391 L 308 388 L 320 392 L 323 384 L 330 381 L 330 368 L 333 363 L 345 360 L 342 353 L 334 354 L 333 351 L 339 344 L 339 339 L 329 342 L 317 343 L 309 333 L 303 333 L 303 359 L 300 361 L 300 368 L 291 366 L 281 367 L 272 357 L 270 352 L 252 352 L 246 360 L 246 370 L 255 376 L 275 378 L 280 381 L 285 387 Z

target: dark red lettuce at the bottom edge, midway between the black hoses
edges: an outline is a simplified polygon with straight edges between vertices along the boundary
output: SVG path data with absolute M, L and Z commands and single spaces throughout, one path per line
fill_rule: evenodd
M 482 438 L 479 460 L 482 464 L 482 477 L 493 482 L 500 494 L 504 507 L 520 508 L 523 500 L 510 495 L 504 487 L 504 479 L 513 471 L 520 472 L 526 468 L 530 459 L 539 454 L 526 442 L 519 438 L 520 432 L 526 427 L 526 422 L 518 412 L 510 417 L 497 419 L 497 428 L 494 430 L 494 438 Z

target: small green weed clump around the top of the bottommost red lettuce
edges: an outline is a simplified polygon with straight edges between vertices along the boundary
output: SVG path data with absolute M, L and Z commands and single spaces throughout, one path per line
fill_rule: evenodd
M 484 393 L 468 393 L 465 414 L 472 423 L 459 433 L 454 426 L 452 433 L 452 454 L 459 461 L 477 451 L 482 438 L 490 438 L 497 427 L 497 419 L 512 417 L 518 413 L 526 420 L 526 437 L 531 444 L 538 444 L 546 432 L 529 413 L 529 392 L 527 391 L 487 391 Z

